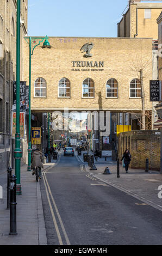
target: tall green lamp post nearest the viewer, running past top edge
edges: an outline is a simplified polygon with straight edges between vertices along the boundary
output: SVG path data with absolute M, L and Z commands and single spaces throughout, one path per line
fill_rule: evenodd
M 15 175 L 16 193 L 21 194 L 20 163 L 22 151 L 20 148 L 20 0 L 17 0 L 17 29 L 16 29 L 16 134 L 15 134 Z

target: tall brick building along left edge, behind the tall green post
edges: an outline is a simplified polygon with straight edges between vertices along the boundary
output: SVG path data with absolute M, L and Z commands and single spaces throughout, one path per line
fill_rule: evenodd
M 21 52 L 27 34 L 27 0 L 21 1 Z M 23 80 L 21 54 L 21 80 Z M 16 80 L 16 0 L 0 4 L 0 171 L 12 164 L 11 109 L 13 81 Z

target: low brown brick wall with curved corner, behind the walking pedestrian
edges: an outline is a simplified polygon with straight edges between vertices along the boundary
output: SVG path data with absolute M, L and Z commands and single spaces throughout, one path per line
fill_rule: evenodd
M 119 136 L 119 157 L 124 151 L 130 150 L 131 168 L 145 169 L 146 159 L 149 160 L 149 169 L 160 170 L 160 131 L 129 131 Z

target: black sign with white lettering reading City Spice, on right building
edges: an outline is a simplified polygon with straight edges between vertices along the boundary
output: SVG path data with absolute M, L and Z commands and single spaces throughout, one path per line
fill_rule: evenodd
M 160 81 L 151 80 L 150 81 L 150 101 L 160 101 Z

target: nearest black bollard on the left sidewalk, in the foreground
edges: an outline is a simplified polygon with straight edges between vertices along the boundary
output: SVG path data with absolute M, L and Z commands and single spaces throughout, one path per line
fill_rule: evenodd
M 16 231 L 16 176 L 10 177 L 10 233 L 9 235 L 17 235 Z

